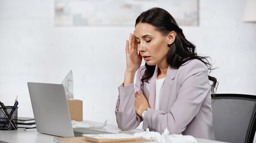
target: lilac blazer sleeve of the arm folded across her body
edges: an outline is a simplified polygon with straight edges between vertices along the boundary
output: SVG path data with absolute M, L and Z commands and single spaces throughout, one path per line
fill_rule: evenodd
M 179 73 L 175 78 L 180 88 L 177 89 L 176 101 L 166 112 L 147 110 L 144 114 L 143 129 L 151 128 L 162 133 L 167 128 L 170 134 L 182 133 L 198 114 L 206 96 L 210 96 L 208 69 L 201 61 L 191 61 L 181 66 L 177 72 Z M 176 97 L 170 93 L 165 96 Z

